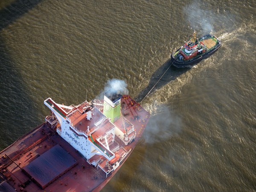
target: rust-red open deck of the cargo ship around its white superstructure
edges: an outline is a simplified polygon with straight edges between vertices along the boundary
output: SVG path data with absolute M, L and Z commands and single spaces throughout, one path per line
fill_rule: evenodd
M 122 161 L 123 163 L 140 139 L 150 115 L 129 96 L 123 96 L 121 103 L 122 115 L 134 125 L 137 133 L 136 139 L 127 146 L 124 146 L 115 137 L 116 142 L 122 146 L 122 150 L 129 152 Z M 49 178 L 40 185 L 38 181 L 40 181 L 42 175 L 37 171 L 29 173 L 28 167 L 31 166 L 32 170 L 35 170 L 40 158 L 58 147 L 61 147 L 64 156 L 69 154 L 70 161 L 74 160 L 75 163 L 67 164 L 63 169 L 58 169 L 58 172 L 55 173 L 52 173 L 52 169 L 49 170 L 50 167 L 43 168 L 44 174 L 48 174 Z M 105 161 L 100 163 L 100 166 L 105 166 Z M 115 172 L 119 168 L 120 166 Z M 46 123 L 23 135 L 11 146 L 0 152 L 0 185 L 12 186 L 17 191 L 99 191 L 113 177 L 115 172 L 106 178 L 105 172 L 90 165 L 79 152 Z

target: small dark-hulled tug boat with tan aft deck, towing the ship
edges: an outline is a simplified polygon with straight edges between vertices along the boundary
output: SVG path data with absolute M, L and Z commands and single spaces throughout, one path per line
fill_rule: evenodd
M 171 62 L 175 67 L 191 67 L 207 58 L 221 47 L 221 41 L 212 34 L 204 35 L 199 39 L 196 32 L 184 46 L 171 54 Z

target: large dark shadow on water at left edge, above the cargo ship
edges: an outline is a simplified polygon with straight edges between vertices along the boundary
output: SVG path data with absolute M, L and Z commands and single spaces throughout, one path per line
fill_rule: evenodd
M 0 150 L 36 126 L 33 106 L 21 74 L 4 43 L 0 43 Z M 20 69 L 19 69 L 20 70 Z

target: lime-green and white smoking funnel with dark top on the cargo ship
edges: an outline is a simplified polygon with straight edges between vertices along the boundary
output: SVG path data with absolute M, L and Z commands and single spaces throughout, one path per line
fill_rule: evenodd
M 104 109 L 103 114 L 115 122 L 121 115 L 121 97 L 120 92 L 112 92 L 111 90 L 104 94 Z

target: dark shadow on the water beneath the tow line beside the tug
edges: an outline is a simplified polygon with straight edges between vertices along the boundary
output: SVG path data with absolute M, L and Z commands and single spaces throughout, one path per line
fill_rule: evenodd
M 180 75 L 182 75 L 183 73 L 185 73 L 191 69 L 191 68 L 177 68 L 175 66 L 170 66 L 171 64 L 172 64 L 171 59 L 167 60 L 162 66 L 160 66 L 152 74 L 152 76 L 149 80 L 148 86 L 145 89 L 143 89 L 135 98 L 137 102 L 139 102 L 139 103 L 142 102 L 142 100 L 145 96 L 148 97 L 148 96 L 152 95 L 155 91 L 160 89 L 162 86 L 175 80 L 177 77 L 179 77 Z M 162 75 L 163 75 L 163 77 L 162 77 Z M 160 77 L 162 77 L 162 78 L 160 79 Z M 157 83 L 158 80 L 159 80 L 159 82 Z M 150 93 L 148 94 L 149 91 L 150 91 Z

